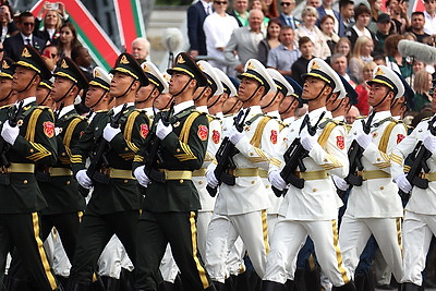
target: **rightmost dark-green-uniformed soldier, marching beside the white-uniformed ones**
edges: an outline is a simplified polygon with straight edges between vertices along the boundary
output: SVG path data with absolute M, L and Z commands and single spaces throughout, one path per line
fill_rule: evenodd
M 192 182 L 192 171 L 205 159 L 208 137 L 207 117 L 195 111 L 193 94 L 207 81 L 186 53 L 178 56 L 168 73 L 173 112 L 156 116 L 153 134 L 133 165 L 140 184 L 147 187 L 137 230 L 136 289 L 157 290 L 155 277 L 169 243 L 184 289 L 215 290 L 197 253 L 195 220 L 201 205 Z M 145 158 L 154 143 L 159 143 L 159 155 Z M 145 168 L 145 162 L 152 167 Z

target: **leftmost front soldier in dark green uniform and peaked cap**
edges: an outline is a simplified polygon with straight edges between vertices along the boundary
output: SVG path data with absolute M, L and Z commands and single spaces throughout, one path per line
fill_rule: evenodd
M 14 64 L 13 89 L 22 110 L 17 126 L 3 123 L 1 137 L 10 146 L 0 173 L 0 266 L 13 247 L 23 260 L 34 290 L 58 290 L 40 238 L 39 211 L 47 203 L 35 178 L 35 165 L 51 166 L 57 160 L 53 116 L 36 104 L 36 87 L 50 71 L 38 52 L 25 46 Z M 19 108 L 20 108 L 19 106 Z M 4 269 L 1 269 L 1 276 Z M 11 278 L 8 290 L 23 290 Z

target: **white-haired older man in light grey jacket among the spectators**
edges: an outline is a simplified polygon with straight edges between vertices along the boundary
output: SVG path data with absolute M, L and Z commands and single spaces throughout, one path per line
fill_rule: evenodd
M 240 73 L 244 70 L 247 60 L 257 57 L 258 44 L 264 39 L 261 27 L 264 13 L 261 10 L 250 11 L 249 27 L 234 29 L 225 49 L 226 60 L 235 63 L 235 70 Z M 238 58 L 237 58 L 238 56 Z

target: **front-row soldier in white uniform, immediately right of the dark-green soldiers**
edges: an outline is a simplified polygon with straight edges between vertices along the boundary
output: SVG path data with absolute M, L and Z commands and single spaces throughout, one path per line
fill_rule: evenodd
M 238 237 L 246 247 L 254 269 L 264 276 L 269 251 L 266 209 L 270 206 L 258 170 L 267 170 L 269 157 L 277 150 L 278 123 L 264 117 L 261 98 L 276 84 L 257 60 L 251 59 L 240 76 L 238 99 L 243 101 L 243 112 L 251 110 L 243 132 L 232 126 L 229 140 L 240 151 L 233 157 L 237 169 L 232 171 L 235 185 L 222 183 L 209 225 L 206 245 L 206 268 L 218 290 L 223 290 L 226 259 Z M 215 166 L 215 165 L 214 165 Z M 207 171 L 207 183 L 216 187 L 215 167 Z

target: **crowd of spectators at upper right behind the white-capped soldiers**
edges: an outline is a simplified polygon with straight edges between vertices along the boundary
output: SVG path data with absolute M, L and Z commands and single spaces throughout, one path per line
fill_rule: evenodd
M 408 1 L 306 0 L 296 14 L 294 0 L 199 0 L 187 11 L 190 52 L 229 75 L 256 58 L 301 85 L 310 60 L 325 59 L 358 90 L 358 108 L 363 113 L 370 110 L 366 82 L 371 70 L 385 64 L 419 88 L 417 112 L 432 100 L 424 83 L 434 78 L 435 68 L 401 56 L 398 44 L 409 39 L 435 46 L 436 1 L 423 2 L 424 11 L 408 14 Z M 427 73 L 426 82 L 421 71 Z

